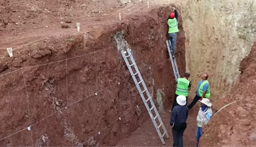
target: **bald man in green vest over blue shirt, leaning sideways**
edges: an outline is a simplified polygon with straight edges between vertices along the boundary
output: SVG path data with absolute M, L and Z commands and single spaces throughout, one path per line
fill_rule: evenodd
M 199 81 L 197 89 L 196 89 L 196 96 L 194 97 L 191 104 L 188 105 L 188 108 L 191 109 L 198 100 L 202 100 L 203 98 L 209 99 L 210 97 L 210 85 L 208 82 L 208 74 L 202 74 L 202 80 Z

